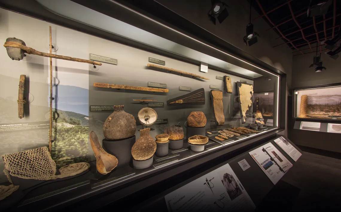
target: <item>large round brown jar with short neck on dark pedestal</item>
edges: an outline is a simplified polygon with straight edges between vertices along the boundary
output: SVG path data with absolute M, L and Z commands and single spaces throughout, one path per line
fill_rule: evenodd
M 103 134 L 107 140 L 119 140 L 135 135 L 136 120 L 133 115 L 124 111 L 124 105 L 114 105 L 114 112 L 103 125 Z

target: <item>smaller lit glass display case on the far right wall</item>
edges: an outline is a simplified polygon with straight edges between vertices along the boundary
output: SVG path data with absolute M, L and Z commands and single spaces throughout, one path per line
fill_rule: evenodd
M 294 118 L 341 120 L 341 85 L 294 89 Z

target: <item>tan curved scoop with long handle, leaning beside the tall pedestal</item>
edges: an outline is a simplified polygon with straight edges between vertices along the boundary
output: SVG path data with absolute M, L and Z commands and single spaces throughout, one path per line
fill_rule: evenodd
M 90 142 L 96 157 L 96 168 L 101 174 L 107 174 L 116 168 L 118 160 L 114 155 L 105 152 L 100 145 L 98 137 L 94 131 L 90 132 Z

